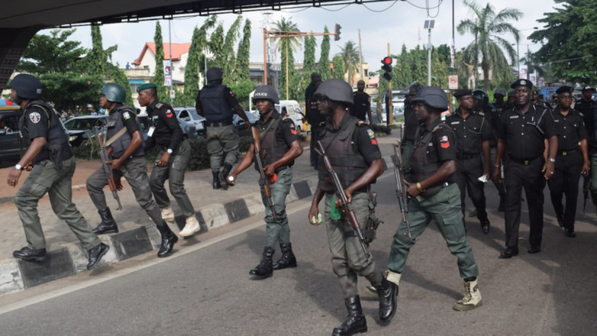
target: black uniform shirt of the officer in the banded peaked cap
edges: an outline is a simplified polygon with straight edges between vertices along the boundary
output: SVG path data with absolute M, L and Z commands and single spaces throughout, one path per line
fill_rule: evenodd
M 533 160 L 543 155 L 544 139 L 561 133 L 561 124 L 548 109 L 538 105 L 531 105 L 524 115 L 512 108 L 501 113 L 498 136 L 506 141 L 506 154 L 516 160 Z

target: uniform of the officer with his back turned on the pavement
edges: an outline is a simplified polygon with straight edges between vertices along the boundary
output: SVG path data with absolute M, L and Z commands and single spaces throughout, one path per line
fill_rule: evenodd
M 206 119 L 207 151 L 213 172 L 220 169 L 222 159 L 230 167 L 236 163 L 239 136 L 232 124 L 233 108 L 236 105 L 239 105 L 236 96 L 223 84 L 208 83 L 197 94 L 195 107 Z

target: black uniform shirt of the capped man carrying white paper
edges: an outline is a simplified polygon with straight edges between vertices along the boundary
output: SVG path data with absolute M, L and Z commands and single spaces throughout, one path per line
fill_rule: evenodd
M 483 141 L 493 138 L 491 127 L 482 112 L 472 112 L 466 119 L 457 109 L 445 120 L 456 135 L 456 151 L 458 154 L 479 154 L 483 151 Z

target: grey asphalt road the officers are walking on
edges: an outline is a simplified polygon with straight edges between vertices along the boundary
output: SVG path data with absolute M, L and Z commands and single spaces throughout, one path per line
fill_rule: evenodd
M 546 195 L 541 253 L 498 259 L 503 221 L 497 193 L 487 185 L 491 231 L 467 218 L 469 242 L 481 274 L 484 305 L 452 310 L 463 290 L 456 258 L 431 224 L 411 251 L 402 276 L 398 312 L 390 325 L 377 320 L 377 300 L 362 294 L 371 335 L 595 335 L 597 332 L 597 227 L 578 215 L 574 239 L 564 236 Z M 392 172 L 374 190 L 385 222 L 371 250 L 383 270 L 399 218 Z M 154 253 L 0 298 L 3 335 L 329 335 L 346 310 L 331 271 L 324 227 L 306 221 L 310 200 L 288 207 L 298 268 L 252 280 L 260 259 L 260 216 L 181 243 L 167 259 Z M 523 209 L 526 203 L 523 203 Z M 580 207 L 580 205 L 579 205 Z M 593 207 L 590 208 L 593 210 Z M 322 209 L 320 209 L 322 210 Z M 527 222 L 526 210 L 522 221 Z M 521 237 L 528 225 L 521 225 Z M 276 251 L 275 258 L 280 256 Z M 359 286 L 367 281 L 359 278 Z

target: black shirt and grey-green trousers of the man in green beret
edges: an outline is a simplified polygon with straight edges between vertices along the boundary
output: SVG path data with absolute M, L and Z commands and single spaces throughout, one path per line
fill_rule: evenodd
M 183 131 L 173 111 L 172 106 L 158 102 L 157 99 L 147 106 L 151 127 L 147 133 L 145 150 L 149 151 L 154 146 L 158 146 L 160 149 L 158 158 L 161 158 L 166 151 L 171 155 L 168 166 L 153 167 L 149 181 L 153 197 L 163 212 L 163 209 L 170 207 L 170 198 L 164 188 L 164 182 L 168 179 L 170 193 L 179 205 L 184 218 L 189 218 L 195 216 L 193 204 L 184 190 L 184 170 L 189 162 L 190 145 L 183 138 Z

